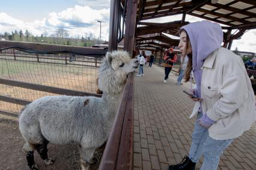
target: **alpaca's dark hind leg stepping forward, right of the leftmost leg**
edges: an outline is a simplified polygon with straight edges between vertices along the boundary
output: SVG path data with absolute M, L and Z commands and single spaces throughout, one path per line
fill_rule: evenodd
M 35 148 L 37 149 L 37 152 L 40 155 L 41 159 L 44 160 L 44 163 L 46 163 L 46 165 L 52 165 L 54 163 L 54 160 L 48 157 L 48 143 L 48 141 L 44 141 L 43 144 L 35 144 Z

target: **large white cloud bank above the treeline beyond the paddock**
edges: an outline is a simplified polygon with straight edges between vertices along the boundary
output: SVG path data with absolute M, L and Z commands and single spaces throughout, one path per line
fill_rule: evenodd
M 47 32 L 54 34 L 57 28 L 64 28 L 69 32 L 70 37 L 82 37 L 85 33 L 92 33 L 96 37 L 100 34 L 100 23 L 102 21 L 102 40 L 108 40 L 109 9 L 94 10 L 87 6 L 75 5 L 74 8 L 67 8 L 59 13 L 49 13 L 43 20 L 34 22 L 22 22 L 14 19 L 6 13 L 0 13 L 0 32 L 11 32 L 15 29 L 28 29 L 33 35 L 41 35 Z

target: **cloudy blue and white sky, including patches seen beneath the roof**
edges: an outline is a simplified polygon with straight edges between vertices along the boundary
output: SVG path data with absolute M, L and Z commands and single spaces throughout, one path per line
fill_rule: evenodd
M 28 29 L 34 36 L 50 36 L 56 29 L 63 28 L 73 38 L 85 34 L 100 35 L 102 21 L 102 40 L 108 41 L 110 0 L 0 0 L 0 33 L 23 32 Z M 172 22 L 181 20 L 181 15 L 145 20 L 145 22 Z M 203 19 L 187 15 L 186 21 Z M 246 32 L 240 40 L 234 40 L 231 50 L 256 53 L 256 29 Z

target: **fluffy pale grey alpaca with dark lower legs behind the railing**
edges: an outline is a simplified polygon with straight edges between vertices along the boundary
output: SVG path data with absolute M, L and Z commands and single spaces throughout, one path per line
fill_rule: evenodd
M 47 155 L 47 144 L 79 144 L 82 169 L 93 163 L 94 150 L 111 132 L 127 74 L 138 68 L 138 61 L 125 51 L 107 53 L 99 71 L 102 98 L 94 96 L 44 96 L 20 111 L 19 129 L 26 143 L 23 150 L 30 169 L 37 150 L 44 163 L 53 160 Z

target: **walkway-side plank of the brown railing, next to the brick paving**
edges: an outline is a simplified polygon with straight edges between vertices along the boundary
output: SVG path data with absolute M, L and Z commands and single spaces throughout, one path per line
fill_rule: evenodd
M 119 145 L 117 168 L 133 169 L 133 95 L 134 74 L 131 74 L 127 105 L 124 114 L 123 130 Z

